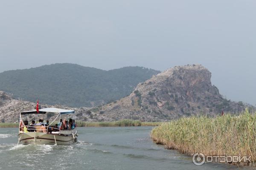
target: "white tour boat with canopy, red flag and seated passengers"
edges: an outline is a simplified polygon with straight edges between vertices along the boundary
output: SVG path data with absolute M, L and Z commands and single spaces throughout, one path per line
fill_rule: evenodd
M 57 115 L 49 125 L 44 125 L 43 122 L 38 122 L 36 118 L 37 116 L 39 118 L 42 118 L 43 116 L 46 118 L 47 114 L 49 113 L 51 114 L 51 116 L 52 113 L 55 113 L 55 115 Z M 32 110 L 20 112 L 18 144 L 70 145 L 76 143 L 78 134 L 75 121 L 74 119 L 72 119 L 74 113 L 75 111 L 72 110 L 58 108 L 43 108 L 39 109 L 39 111 Z M 32 114 L 35 115 L 35 117 L 32 116 Z M 33 117 L 33 120 L 35 120 L 34 125 L 28 124 L 29 118 L 31 117 Z M 62 122 L 61 118 L 63 119 Z M 68 120 L 71 122 L 67 123 Z M 46 122 L 45 119 L 44 121 Z M 52 125 L 54 123 L 55 125 Z M 58 126 L 56 127 L 57 124 Z

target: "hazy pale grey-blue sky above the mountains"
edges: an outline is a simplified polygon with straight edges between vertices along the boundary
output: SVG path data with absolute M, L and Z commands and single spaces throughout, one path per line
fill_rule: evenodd
M 196 63 L 227 99 L 255 105 L 255 9 L 256 0 L 2 0 L 0 72 Z

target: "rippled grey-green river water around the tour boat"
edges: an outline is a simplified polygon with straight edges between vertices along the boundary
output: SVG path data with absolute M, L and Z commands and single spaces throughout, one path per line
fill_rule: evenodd
M 0 128 L 0 170 L 226 170 L 250 169 L 207 163 L 154 144 L 154 127 L 79 127 L 70 146 L 17 145 L 17 128 Z

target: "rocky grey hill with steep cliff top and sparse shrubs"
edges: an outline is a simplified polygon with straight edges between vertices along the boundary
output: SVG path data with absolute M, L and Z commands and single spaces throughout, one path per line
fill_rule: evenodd
M 202 65 L 170 68 L 138 84 L 129 96 L 103 106 L 101 113 L 112 119 L 163 121 L 245 108 L 241 102 L 224 99 L 210 79 L 211 73 Z

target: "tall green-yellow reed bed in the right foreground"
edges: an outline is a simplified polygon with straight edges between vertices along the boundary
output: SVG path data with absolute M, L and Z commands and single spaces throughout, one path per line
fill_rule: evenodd
M 151 138 L 187 155 L 252 156 L 253 165 L 256 161 L 256 115 L 248 110 L 239 116 L 183 117 L 155 127 Z

